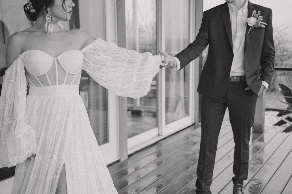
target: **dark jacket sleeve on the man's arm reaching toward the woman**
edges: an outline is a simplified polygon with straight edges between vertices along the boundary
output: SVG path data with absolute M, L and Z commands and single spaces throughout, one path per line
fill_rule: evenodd
M 209 43 L 209 22 L 206 12 L 203 13 L 201 27 L 194 42 L 190 43 L 187 48 L 180 51 L 175 57 L 180 61 L 180 68 L 185 67 L 192 60 L 197 58 Z

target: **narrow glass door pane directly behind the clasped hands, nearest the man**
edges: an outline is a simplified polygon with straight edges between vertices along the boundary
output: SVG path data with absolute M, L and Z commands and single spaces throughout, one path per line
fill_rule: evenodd
M 178 9 L 179 8 L 179 9 Z M 165 26 L 165 52 L 174 56 L 183 50 L 189 39 L 189 1 L 163 0 L 162 22 Z M 187 65 L 180 71 L 166 68 L 165 123 L 170 124 L 190 115 L 190 71 Z

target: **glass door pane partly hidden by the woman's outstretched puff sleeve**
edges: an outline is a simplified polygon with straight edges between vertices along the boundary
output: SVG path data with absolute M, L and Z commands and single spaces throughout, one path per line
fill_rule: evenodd
M 156 54 L 156 1 L 125 0 L 125 8 L 126 48 Z M 128 138 L 157 127 L 157 77 L 146 96 L 127 101 Z

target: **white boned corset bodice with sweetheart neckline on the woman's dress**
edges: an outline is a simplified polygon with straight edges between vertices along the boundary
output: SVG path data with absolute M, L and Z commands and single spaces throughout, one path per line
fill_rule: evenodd
M 83 53 L 69 50 L 53 57 L 41 50 L 27 50 L 23 63 L 29 86 L 79 84 Z

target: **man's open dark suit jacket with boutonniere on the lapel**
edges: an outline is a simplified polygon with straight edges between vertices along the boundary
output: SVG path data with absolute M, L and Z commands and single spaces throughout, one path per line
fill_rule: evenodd
M 244 69 L 246 81 L 258 94 L 262 81 L 270 84 L 274 75 L 275 49 L 272 28 L 272 10 L 248 1 L 248 17 L 253 10 L 260 11 L 265 27 L 246 27 Z M 247 34 L 248 33 L 248 34 Z M 180 68 L 197 58 L 209 45 L 208 56 L 203 67 L 197 91 L 211 99 L 220 99 L 227 90 L 233 60 L 233 44 L 230 14 L 227 3 L 203 13 L 199 33 L 183 51 L 175 55 Z

